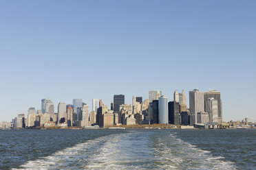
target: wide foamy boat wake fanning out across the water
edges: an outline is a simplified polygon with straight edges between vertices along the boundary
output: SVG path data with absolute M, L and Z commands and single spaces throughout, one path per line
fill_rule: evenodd
M 21 169 L 236 169 L 223 157 L 182 141 L 173 132 L 111 134 L 31 160 Z

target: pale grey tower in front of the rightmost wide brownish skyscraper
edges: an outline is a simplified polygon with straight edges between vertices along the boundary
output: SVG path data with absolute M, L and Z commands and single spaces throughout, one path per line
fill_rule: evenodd
M 209 122 L 218 123 L 218 108 L 217 108 L 217 100 L 214 98 L 208 98 L 204 101 L 205 104 L 205 112 L 209 114 Z

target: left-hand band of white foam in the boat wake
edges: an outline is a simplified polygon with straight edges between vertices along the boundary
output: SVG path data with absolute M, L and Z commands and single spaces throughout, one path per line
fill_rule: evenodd
M 122 136 L 122 134 L 118 135 Z M 80 143 L 74 147 L 56 151 L 56 153 L 45 158 L 30 160 L 21 165 L 21 169 L 84 169 L 87 165 L 87 160 L 97 154 L 98 149 L 103 147 L 105 142 L 114 136 L 116 134 L 103 136 Z

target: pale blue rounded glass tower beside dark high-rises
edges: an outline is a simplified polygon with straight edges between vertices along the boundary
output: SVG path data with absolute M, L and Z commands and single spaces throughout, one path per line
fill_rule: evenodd
M 168 98 L 161 96 L 158 99 L 158 110 L 159 110 L 159 123 L 168 124 Z

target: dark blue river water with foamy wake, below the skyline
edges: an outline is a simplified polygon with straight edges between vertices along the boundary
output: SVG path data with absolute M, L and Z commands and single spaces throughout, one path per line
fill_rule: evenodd
M 0 130 L 0 169 L 256 169 L 256 130 Z

